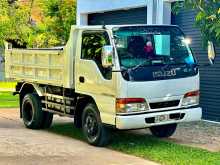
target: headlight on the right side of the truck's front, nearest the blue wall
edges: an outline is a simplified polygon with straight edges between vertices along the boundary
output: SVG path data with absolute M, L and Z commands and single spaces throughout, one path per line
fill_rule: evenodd
M 184 95 L 182 106 L 192 106 L 199 104 L 199 91 L 188 92 Z

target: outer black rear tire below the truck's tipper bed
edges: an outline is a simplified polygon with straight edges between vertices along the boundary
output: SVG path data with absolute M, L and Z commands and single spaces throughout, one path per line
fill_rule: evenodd
M 43 111 L 40 98 L 36 94 L 26 94 L 22 100 L 22 118 L 30 129 L 40 129 L 43 123 Z

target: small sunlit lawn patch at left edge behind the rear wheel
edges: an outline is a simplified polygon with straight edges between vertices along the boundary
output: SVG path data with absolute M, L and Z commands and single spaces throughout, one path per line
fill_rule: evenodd
M 18 106 L 18 95 L 13 96 L 12 92 L 0 91 L 0 108 L 15 108 Z

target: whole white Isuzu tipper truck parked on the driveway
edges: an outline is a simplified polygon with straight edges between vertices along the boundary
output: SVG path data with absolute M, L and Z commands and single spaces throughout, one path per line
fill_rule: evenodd
M 178 123 L 201 119 L 198 64 L 177 26 L 72 26 L 64 47 L 5 47 L 27 128 L 69 116 L 89 144 L 104 146 L 114 129 L 169 137 Z

